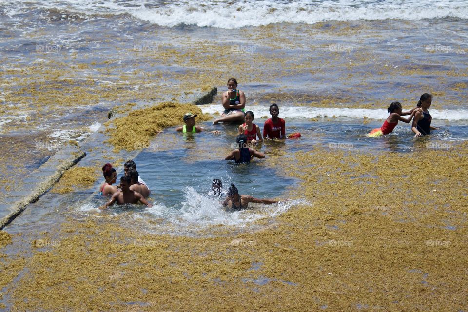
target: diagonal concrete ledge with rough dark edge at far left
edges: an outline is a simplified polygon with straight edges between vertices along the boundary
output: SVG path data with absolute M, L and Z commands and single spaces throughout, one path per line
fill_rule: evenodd
M 11 213 L 0 220 L 0 230 L 19 216 L 30 203 L 38 201 L 40 196 L 59 181 L 65 171 L 77 164 L 84 156 L 86 153 L 77 146 L 67 146 L 28 175 L 27 179 L 36 187 L 26 195 L 23 192 L 11 194 L 10 198 L 14 204 L 9 209 Z

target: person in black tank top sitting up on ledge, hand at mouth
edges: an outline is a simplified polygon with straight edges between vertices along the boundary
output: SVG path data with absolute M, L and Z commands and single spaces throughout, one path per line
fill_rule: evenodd
M 244 91 L 237 90 L 237 80 L 228 80 L 228 91 L 224 92 L 221 98 L 224 112 L 221 118 L 213 121 L 214 125 L 220 122 L 230 122 L 240 124 L 245 118 L 245 94 Z

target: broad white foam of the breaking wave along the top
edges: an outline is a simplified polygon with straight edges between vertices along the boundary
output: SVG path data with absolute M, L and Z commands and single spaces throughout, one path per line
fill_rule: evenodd
M 227 29 L 281 22 L 313 24 L 329 20 L 468 18 L 468 3 L 464 0 L 234 0 L 229 4 L 221 0 L 14 0 L 6 1 L 3 5 L 10 16 L 39 7 L 82 14 L 130 14 L 168 27 L 187 24 Z

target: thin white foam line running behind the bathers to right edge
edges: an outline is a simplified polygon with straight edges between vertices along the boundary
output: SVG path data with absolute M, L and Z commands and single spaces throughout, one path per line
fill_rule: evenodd
M 222 110 L 220 104 L 200 105 L 203 113 L 219 113 Z M 254 112 L 255 118 L 270 117 L 269 107 L 250 106 L 247 110 Z M 434 119 L 445 120 L 468 120 L 467 109 L 437 110 L 429 109 L 430 115 Z M 323 118 L 323 117 L 350 117 L 350 118 L 370 118 L 387 119 L 389 113 L 385 109 L 366 109 L 366 108 L 320 108 L 304 106 L 280 106 L 279 117 L 303 119 L 303 118 Z

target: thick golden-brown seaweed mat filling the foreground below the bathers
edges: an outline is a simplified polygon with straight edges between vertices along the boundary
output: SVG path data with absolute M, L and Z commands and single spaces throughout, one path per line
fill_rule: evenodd
M 144 234 L 115 217 L 69 218 L 26 261 L 4 257 L 2 286 L 27 268 L 9 309 L 463 311 L 467 150 L 296 153 L 282 168 L 313 207 L 257 221 L 264 228 L 251 233 Z

